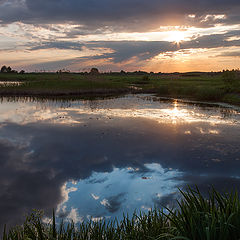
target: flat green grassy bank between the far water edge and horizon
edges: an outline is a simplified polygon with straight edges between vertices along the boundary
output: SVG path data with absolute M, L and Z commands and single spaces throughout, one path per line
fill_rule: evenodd
M 102 96 L 155 93 L 158 96 L 240 104 L 240 76 L 228 73 L 100 74 L 73 73 L 0 74 L 0 96 Z

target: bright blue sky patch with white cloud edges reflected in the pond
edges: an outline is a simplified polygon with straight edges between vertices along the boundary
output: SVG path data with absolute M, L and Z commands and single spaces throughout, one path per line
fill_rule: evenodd
M 57 213 L 70 219 L 73 209 L 78 209 L 79 220 L 91 218 L 121 218 L 123 212 L 153 208 L 165 195 L 174 196 L 181 181 L 181 173 L 163 169 L 160 164 L 145 164 L 146 171 L 133 168 L 114 168 L 112 172 L 94 172 L 77 183 L 69 182 L 63 189 L 68 195 Z M 155 200 L 155 202 L 153 201 Z

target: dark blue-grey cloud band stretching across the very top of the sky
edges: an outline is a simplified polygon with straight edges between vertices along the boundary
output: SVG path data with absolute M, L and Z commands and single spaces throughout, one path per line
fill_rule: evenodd
M 5 23 L 74 22 L 94 29 L 108 26 L 124 31 L 146 31 L 160 25 L 236 23 L 238 10 L 238 0 L 6 0 L 0 2 L 0 19 Z M 195 14 L 196 19 L 187 19 L 188 14 Z M 207 14 L 226 14 L 227 17 L 204 20 Z

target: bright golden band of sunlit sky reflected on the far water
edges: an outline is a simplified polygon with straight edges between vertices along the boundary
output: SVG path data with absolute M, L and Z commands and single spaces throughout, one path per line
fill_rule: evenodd
M 151 99 L 149 99 L 151 100 Z M 133 101 L 133 103 L 132 103 Z M 130 104 L 129 104 L 130 103 Z M 96 104 L 96 106 L 94 105 Z M 113 118 L 145 118 L 164 124 L 181 124 L 206 122 L 212 124 L 238 124 L 239 112 L 224 115 L 219 108 L 200 108 L 177 100 L 173 102 L 155 102 L 138 97 L 99 101 L 77 101 L 69 106 L 36 105 L 33 103 L 2 104 L 3 112 L 0 121 L 11 121 L 19 124 L 44 122 L 53 124 L 85 124 L 90 118 L 110 120 Z M 6 105 L 6 106 L 5 106 Z M 94 106 L 94 107 L 93 107 Z M 16 117 L 17 112 L 17 117 Z

